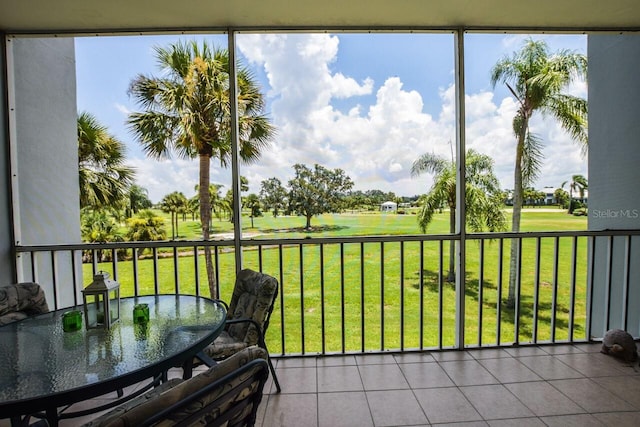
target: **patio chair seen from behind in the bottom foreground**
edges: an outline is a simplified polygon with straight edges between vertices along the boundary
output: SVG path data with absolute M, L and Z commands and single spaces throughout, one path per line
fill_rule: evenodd
M 267 352 L 252 346 L 188 380 L 163 383 L 83 427 L 253 426 L 269 376 Z

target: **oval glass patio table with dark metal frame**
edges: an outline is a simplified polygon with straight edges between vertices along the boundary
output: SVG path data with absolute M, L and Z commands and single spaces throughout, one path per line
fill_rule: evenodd
M 149 305 L 150 320 L 134 324 L 133 307 Z M 109 405 L 115 406 L 157 385 L 174 366 L 191 374 L 194 357 L 215 363 L 202 350 L 220 334 L 226 320 L 223 303 L 192 295 L 123 298 L 120 320 L 111 329 L 64 332 L 62 316 L 81 306 L 57 310 L 0 327 L 0 419 L 28 423 L 46 416 L 50 425 L 87 411 L 58 413 L 58 408 L 152 379 L 147 387 Z M 23 416 L 26 416 L 23 418 Z

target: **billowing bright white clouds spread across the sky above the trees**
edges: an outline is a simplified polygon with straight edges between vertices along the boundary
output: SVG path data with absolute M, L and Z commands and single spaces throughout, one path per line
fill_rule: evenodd
M 421 94 L 405 89 L 398 76 L 378 82 L 371 77 L 356 80 L 335 69 L 339 38 L 332 35 L 242 34 L 237 40 L 249 64 L 264 70 L 269 115 L 278 130 L 257 163 L 241 165 L 240 173 L 249 179 L 251 192 L 259 192 L 260 182 L 273 176 L 286 185 L 295 163 L 319 163 L 344 169 L 356 189 L 421 194 L 432 180 L 428 175 L 411 178 L 415 159 L 423 153 L 451 158 L 455 144 L 453 85 L 438 93 Z M 519 37 L 508 40 L 520 41 Z M 584 96 L 586 84 L 578 82 L 571 91 Z M 423 97 L 438 97 L 440 111 L 425 113 Z M 467 147 L 490 155 L 501 185 L 512 188 L 512 120 L 517 104 L 510 97 L 495 99 L 488 91 L 467 94 L 465 99 Z M 126 107 L 118 109 L 125 112 Z M 557 124 L 536 116 L 531 126 L 546 144 L 543 178 L 536 186 L 558 186 L 573 174 L 586 175 L 586 160 Z M 133 166 L 138 169 L 139 184 L 154 201 L 171 191 L 189 197 L 195 194 L 197 160 L 145 159 Z M 228 188 L 229 171 L 220 171 L 215 161 L 211 171 L 212 181 Z

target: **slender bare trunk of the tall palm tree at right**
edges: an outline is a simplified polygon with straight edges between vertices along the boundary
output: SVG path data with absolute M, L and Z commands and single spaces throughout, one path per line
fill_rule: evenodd
M 524 138 L 527 131 L 527 121 L 522 124 L 522 129 L 518 135 L 518 146 L 516 147 L 516 163 L 514 168 L 514 188 L 513 188 L 513 214 L 511 217 L 511 231 L 520 231 L 520 217 L 522 215 L 522 155 L 524 151 Z M 507 307 L 513 308 L 516 305 L 516 287 L 518 280 L 518 259 L 519 247 L 516 239 L 511 241 L 511 259 L 509 263 L 509 297 Z

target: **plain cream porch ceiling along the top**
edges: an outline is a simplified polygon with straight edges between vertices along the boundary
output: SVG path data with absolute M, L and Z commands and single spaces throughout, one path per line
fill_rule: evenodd
M 0 0 L 0 31 L 640 29 L 640 0 Z

